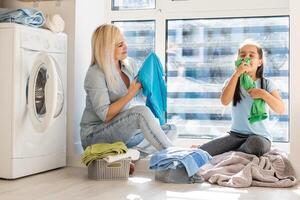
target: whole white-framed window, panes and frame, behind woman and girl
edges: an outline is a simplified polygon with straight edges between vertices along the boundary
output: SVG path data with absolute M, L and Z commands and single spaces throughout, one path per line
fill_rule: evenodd
M 230 130 L 231 108 L 221 105 L 220 92 L 234 70 L 240 43 L 252 38 L 264 49 L 264 74 L 275 81 L 286 107 L 284 115 L 269 113 L 273 139 L 289 141 L 289 17 L 284 7 L 288 4 L 270 4 L 261 13 L 252 6 L 256 4 L 243 10 L 230 5 L 233 2 L 221 8 L 194 0 L 161 0 L 148 9 L 137 2 L 146 1 L 113 0 L 107 7 L 112 8 L 108 21 L 123 28 L 129 56 L 140 64 L 152 50 L 161 58 L 168 89 L 167 120 L 177 125 L 179 138 L 212 139 Z M 116 11 L 124 9 L 130 12 Z M 257 13 L 260 16 L 255 17 Z

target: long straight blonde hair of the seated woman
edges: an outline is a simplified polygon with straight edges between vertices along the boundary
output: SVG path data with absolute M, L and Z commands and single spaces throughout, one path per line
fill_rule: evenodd
M 114 62 L 114 52 L 116 44 L 121 41 L 121 36 L 121 30 L 112 24 L 99 26 L 92 36 L 91 65 L 98 65 L 105 74 L 107 86 L 113 91 L 120 89 L 116 79 L 117 70 Z

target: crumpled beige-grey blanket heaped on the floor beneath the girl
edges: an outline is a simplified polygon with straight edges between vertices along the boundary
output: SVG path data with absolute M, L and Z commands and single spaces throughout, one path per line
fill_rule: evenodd
M 297 184 L 295 172 L 287 157 L 278 150 L 263 156 L 243 152 L 216 155 L 197 173 L 206 181 L 227 187 L 292 187 Z

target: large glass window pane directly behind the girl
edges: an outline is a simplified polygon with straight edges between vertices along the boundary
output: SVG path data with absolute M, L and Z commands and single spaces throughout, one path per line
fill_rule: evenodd
M 252 38 L 265 53 L 265 76 L 288 108 L 289 19 L 254 17 L 167 21 L 168 121 L 184 138 L 215 138 L 230 129 L 230 107 L 219 97 L 234 70 L 239 44 Z M 270 113 L 274 141 L 288 141 L 288 109 Z

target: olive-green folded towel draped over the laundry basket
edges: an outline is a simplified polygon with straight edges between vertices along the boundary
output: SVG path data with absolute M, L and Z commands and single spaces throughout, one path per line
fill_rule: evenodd
M 81 156 L 81 162 L 86 166 L 89 166 L 94 160 L 105 158 L 110 155 L 123 154 L 126 153 L 127 150 L 128 149 L 123 142 L 93 144 L 84 150 Z

